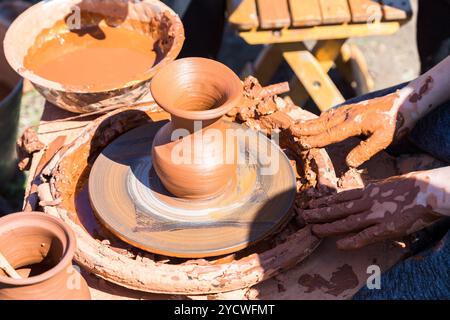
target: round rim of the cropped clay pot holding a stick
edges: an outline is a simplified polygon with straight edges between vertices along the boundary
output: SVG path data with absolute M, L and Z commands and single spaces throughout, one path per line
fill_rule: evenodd
M 64 253 L 59 261 L 59 263 L 51 268 L 50 270 L 41 273 L 34 277 L 24 278 L 24 279 L 13 279 L 10 277 L 0 276 L 0 282 L 7 285 L 13 286 L 27 286 L 36 283 L 41 283 L 50 278 L 53 278 L 58 273 L 64 271 L 68 265 L 72 264 L 73 255 L 76 249 L 76 238 L 75 233 L 65 224 L 61 219 L 50 216 L 42 212 L 20 212 L 14 213 L 3 218 L 0 218 L 0 236 L 3 233 L 10 232 L 8 230 L 9 225 L 13 225 L 15 228 L 27 227 L 37 220 L 45 221 L 46 223 L 53 224 L 54 226 L 60 228 L 64 232 L 66 239 L 66 247 L 64 248 Z M 49 230 L 51 231 L 51 230 Z M 54 234 L 55 235 L 55 234 Z M 55 235 L 56 236 L 56 235 Z M 64 243 L 64 241 L 62 241 Z

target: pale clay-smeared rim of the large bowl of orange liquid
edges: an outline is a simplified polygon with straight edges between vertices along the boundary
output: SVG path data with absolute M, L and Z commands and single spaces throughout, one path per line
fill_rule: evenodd
M 27 30 L 27 28 L 30 28 L 30 25 L 33 26 L 33 23 L 30 21 L 33 21 L 33 16 L 35 15 L 35 12 L 39 12 L 42 10 L 45 10 L 45 6 L 53 6 L 53 7 L 61 7 L 68 8 L 66 10 L 69 10 L 67 13 L 70 13 L 70 8 L 72 6 L 75 6 L 76 4 L 80 3 L 80 0 L 64 0 L 56 2 L 47 2 L 42 1 L 39 2 L 33 6 L 31 6 L 29 9 L 24 11 L 17 19 L 11 24 L 10 28 L 8 29 L 5 39 L 4 39 L 4 48 L 5 48 L 5 56 L 8 61 L 8 63 L 11 65 L 11 67 L 19 73 L 23 78 L 30 80 L 31 82 L 37 84 L 40 87 L 44 87 L 46 89 L 52 89 L 62 92 L 70 92 L 70 93 L 101 93 L 101 92 L 108 92 L 108 91 L 115 91 L 120 89 L 125 89 L 129 87 L 136 86 L 137 84 L 144 83 L 148 81 L 150 78 L 152 78 L 153 75 L 155 75 L 159 69 L 161 69 L 163 66 L 168 64 L 169 62 L 176 59 L 178 54 L 180 53 L 183 43 L 184 43 L 184 27 L 183 24 L 179 18 L 179 16 L 167 5 L 162 3 L 161 1 L 156 0 L 142 0 L 141 1 L 144 4 L 148 4 L 152 7 L 152 10 L 155 12 L 155 16 L 160 15 L 166 15 L 170 17 L 171 26 L 170 26 L 170 36 L 173 36 L 173 44 L 165 55 L 165 57 L 157 63 L 153 68 L 146 71 L 145 73 L 139 75 L 139 78 L 134 79 L 133 81 L 124 83 L 121 86 L 111 86 L 109 87 L 102 87 L 101 90 L 96 89 L 95 87 L 92 89 L 88 89 L 85 86 L 64 86 L 58 82 L 51 81 L 44 79 L 40 77 L 39 75 L 35 74 L 34 72 L 28 70 L 23 65 L 23 61 L 20 61 L 17 50 L 13 49 L 15 46 L 17 46 L 17 35 L 21 34 L 23 30 Z M 63 9 L 58 8 L 58 11 L 62 11 Z M 167 13 L 167 14 L 166 14 Z M 48 26 L 52 27 L 52 26 Z M 28 48 L 27 48 L 28 49 Z

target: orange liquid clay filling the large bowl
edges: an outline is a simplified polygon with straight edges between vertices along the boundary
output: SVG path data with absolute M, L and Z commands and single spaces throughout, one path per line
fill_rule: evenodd
M 67 32 L 35 45 L 25 58 L 25 67 L 63 86 L 90 87 L 133 81 L 157 62 L 150 35 L 121 26 L 101 24 L 99 28 L 96 33 L 101 37 Z

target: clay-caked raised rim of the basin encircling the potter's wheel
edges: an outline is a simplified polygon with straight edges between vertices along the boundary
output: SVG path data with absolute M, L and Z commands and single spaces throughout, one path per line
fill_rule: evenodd
M 46 213 L 61 217 L 74 230 L 78 243 L 74 258 L 81 267 L 129 289 L 180 295 L 212 294 L 248 288 L 271 278 L 305 259 L 320 244 L 321 240 L 312 235 L 311 227 L 306 226 L 269 250 L 219 264 L 203 259 L 186 264 L 135 260 L 101 244 L 75 221 L 77 214 L 65 205 L 64 200 L 58 203 L 62 198 L 70 200 L 74 196 L 78 178 L 89 166 L 91 153 L 98 153 L 120 134 L 151 122 L 142 114 L 124 112 L 131 110 L 143 111 L 157 120 L 168 118 L 168 114 L 162 113 L 156 105 L 112 111 L 89 124 L 42 172 L 48 182 L 39 186 L 41 205 Z M 92 138 L 100 124 L 103 137 L 94 143 L 96 150 L 93 150 Z M 312 150 L 305 157 L 308 158 L 305 161 L 315 168 L 311 175 L 317 181 L 317 187 L 336 189 L 334 168 L 325 150 Z

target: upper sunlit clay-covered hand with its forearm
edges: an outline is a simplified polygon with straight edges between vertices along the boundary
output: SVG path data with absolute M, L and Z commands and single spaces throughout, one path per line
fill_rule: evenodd
M 358 167 L 450 99 L 449 83 L 450 56 L 397 92 L 331 109 L 317 119 L 294 124 L 290 130 L 305 149 L 325 147 L 352 136 L 367 136 L 346 158 L 350 167 Z

